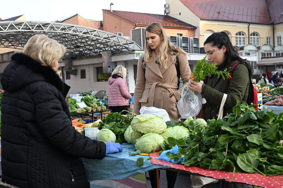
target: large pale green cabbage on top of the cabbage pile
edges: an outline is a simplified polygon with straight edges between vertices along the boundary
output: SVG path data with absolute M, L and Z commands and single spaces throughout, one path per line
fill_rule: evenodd
M 163 133 L 167 126 L 163 118 L 153 114 L 141 114 L 132 119 L 132 130 L 138 133 Z

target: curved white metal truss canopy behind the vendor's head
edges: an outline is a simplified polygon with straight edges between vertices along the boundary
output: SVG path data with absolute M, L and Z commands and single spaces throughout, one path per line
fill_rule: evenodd
M 23 49 L 35 34 L 45 34 L 76 56 L 98 55 L 103 51 L 133 51 L 142 48 L 132 40 L 106 31 L 58 22 L 0 21 L 0 47 Z

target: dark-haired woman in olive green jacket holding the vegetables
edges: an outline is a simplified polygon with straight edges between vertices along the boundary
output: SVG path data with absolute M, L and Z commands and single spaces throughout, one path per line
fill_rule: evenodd
M 204 42 L 204 50 L 207 53 L 207 59 L 216 65 L 218 70 L 226 68 L 227 72 L 231 72 L 233 65 L 238 63 L 233 69 L 231 81 L 224 80 L 221 76 L 217 78 L 212 74 L 206 84 L 194 81 L 189 84 L 191 90 L 200 92 L 207 101 L 204 110 L 205 120 L 217 119 L 224 94 L 227 94 L 227 99 L 224 104 L 223 116 L 232 112 L 237 100 L 247 102 L 253 68 L 249 61 L 240 58 L 237 49 L 232 45 L 225 32 L 210 35 Z

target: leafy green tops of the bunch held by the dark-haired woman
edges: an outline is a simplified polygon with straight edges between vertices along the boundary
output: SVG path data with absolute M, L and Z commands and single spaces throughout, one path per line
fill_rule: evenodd
M 227 69 L 223 71 L 217 71 L 217 67 L 212 63 L 208 63 L 206 61 L 206 58 L 207 55 L 203 59 L 197 60 L 196 68 L 194 69 L 194 72 L 191 73 L 194 75 L 195 81 L 197 83 L 201 82 L 201 80 L 203 80 L 205 76 L 208 76 L 210 74 L 216 74 L 217 78 L 219 78 L 219 76 L 222 76 L 224 80 L 230 77 Z

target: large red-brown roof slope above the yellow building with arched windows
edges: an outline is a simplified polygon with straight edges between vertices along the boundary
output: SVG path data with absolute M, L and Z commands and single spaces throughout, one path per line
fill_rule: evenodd
M 180 1 L 200 19 L 270 24 L 270 17 L 265 0 Z M 273 1 L 278 1 L 279 3 L 279 1 L 282 0 Z

